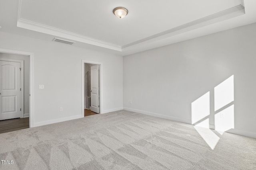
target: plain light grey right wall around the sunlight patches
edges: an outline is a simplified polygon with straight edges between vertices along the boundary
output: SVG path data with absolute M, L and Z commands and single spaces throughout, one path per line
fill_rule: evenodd
M 191 103 L 234 75 L 233 133 L 256 137 L 256 23 L 124 57 L 124 109 L 191 123 Z M 132 104 L 130 104 L 132 101 Z

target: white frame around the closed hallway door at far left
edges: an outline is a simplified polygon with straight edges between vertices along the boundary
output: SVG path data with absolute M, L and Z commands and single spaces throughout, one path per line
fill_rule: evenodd
M 10 62 L 16 62 L 20 63 L 20 118 L 24 117 L 24 61 L 23 60 L 17 60 L 17 59 L 4 59 L 0 58 L 0 61 L 10 61 Z

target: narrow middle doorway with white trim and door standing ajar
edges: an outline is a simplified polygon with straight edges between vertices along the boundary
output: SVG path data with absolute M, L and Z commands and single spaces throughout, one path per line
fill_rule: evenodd
M 101 113 L 102 63 L 82 60 L 82 117 Z

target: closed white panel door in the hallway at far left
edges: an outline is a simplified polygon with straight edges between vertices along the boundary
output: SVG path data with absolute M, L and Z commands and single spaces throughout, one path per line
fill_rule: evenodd
M 0 120 L 20 117 L 20 63 L 0 61 Z

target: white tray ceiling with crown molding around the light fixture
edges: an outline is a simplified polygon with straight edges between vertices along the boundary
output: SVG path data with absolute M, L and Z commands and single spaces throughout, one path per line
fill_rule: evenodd
M 0 1 L 0 31 L 123 56 L 254 22 L 255 0 Z

